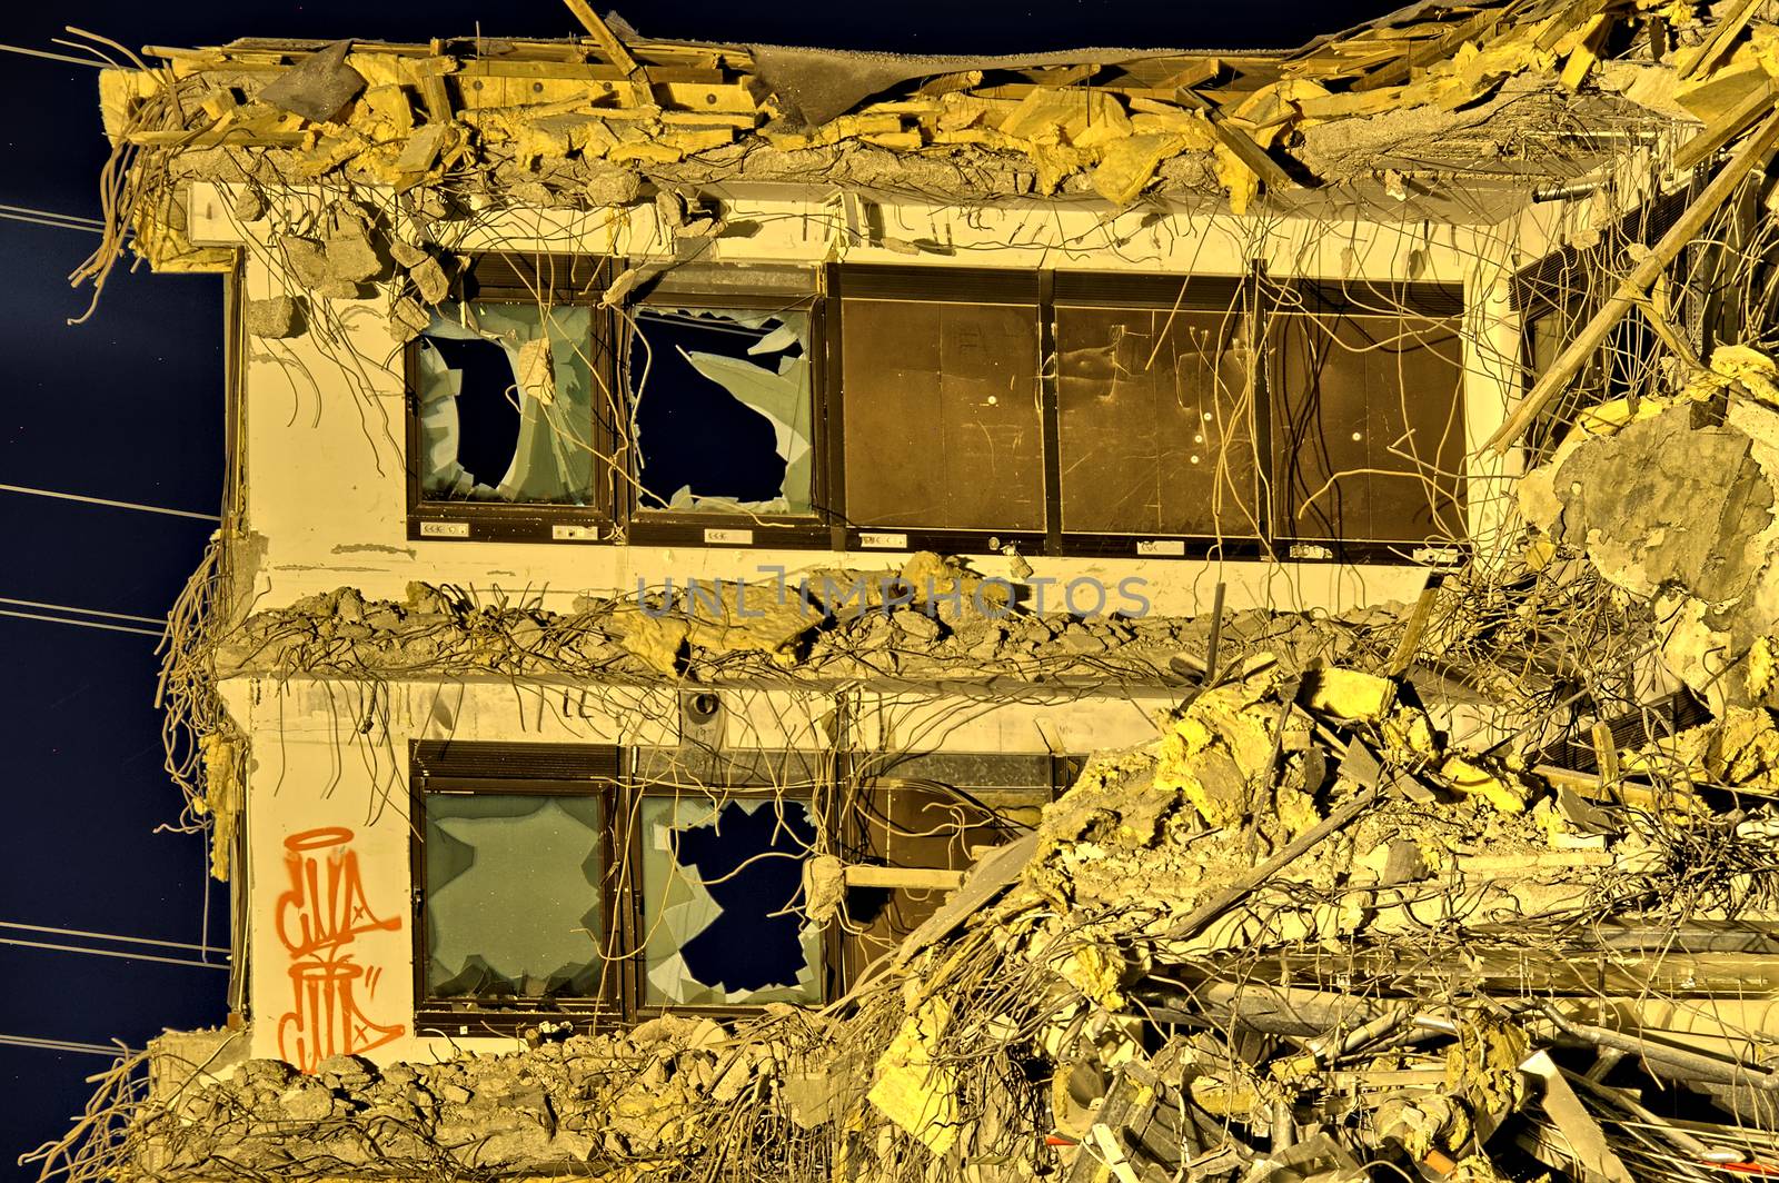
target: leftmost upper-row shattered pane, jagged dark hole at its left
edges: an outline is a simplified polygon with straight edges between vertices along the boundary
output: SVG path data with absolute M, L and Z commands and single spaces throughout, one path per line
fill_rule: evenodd
M 439 304 L 415 342 L 420 496 L 591 505 L 591 308 Z

